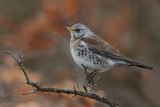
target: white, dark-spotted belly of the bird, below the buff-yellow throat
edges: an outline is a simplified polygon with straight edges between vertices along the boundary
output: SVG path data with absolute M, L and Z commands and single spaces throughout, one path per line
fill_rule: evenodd
M 108 58 L 104 58 L 96 53 L 93 53 L 87 47 L 76 48 L 71 50 L 74 61 L 80 66 L 82 64 L 87 67 L 90 72 L 98 70 L 100 72 L 107 71 L 112 68 L 116 63 Z

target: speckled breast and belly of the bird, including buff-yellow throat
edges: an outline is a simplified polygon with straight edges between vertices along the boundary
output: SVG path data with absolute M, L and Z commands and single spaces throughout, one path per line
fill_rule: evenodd
M 74 61 L 82 67 L 88 67 L 89 71 L 106 71 L 114 65 L 114 62 L 89 50 L 88 45 L 81 39 L 72 39 L 70 42 L 71 54 Z

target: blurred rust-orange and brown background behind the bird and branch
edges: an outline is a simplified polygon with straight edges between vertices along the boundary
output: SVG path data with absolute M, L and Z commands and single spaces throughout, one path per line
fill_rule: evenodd
M 151 65 L 149 71 L 116 67 L 99 74 L 99 95 L 121 107 L 160 107 L 159 0 L 0 0 L 0 107 L 108 107 L 88 98 L 35 93 L 23 73 L 3 51 L 25 56 L 32 80 L 42 85 L 81 89 L 84 70 L 73 61 L 70 33 L 75 23 L 95 34 L 125 56 Z

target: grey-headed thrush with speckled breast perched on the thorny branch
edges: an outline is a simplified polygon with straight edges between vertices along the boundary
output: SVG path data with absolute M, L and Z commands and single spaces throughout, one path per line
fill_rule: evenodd
M 82 68 L 87 67 L 88 72 L 105 72 L 117 65 L 153 69 L 151 66 L 125 57 L 84 24 L 77 23 L 65 29 L 71 34 L 70 50 L 74 61 Z

